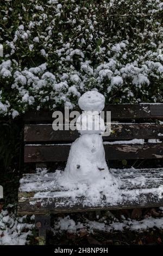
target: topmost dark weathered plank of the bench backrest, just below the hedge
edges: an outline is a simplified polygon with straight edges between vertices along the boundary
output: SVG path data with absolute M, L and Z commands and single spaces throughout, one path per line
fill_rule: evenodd
M 117 104 L 106 105 L 104 111 L 111 111 L 112 119 L 139 119 L 139 118 L 163 118 L 163 104 Z M 31 111 L 24 115 L 26 123 L 44 123 L 54 120 L 53 111 Z

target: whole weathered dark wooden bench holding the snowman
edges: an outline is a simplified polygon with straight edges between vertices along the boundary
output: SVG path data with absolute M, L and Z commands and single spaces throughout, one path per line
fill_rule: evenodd
M 163 104 L 109 105 L 104 110 L 111 111 L 112 120 L 111 135 L 103 137 L 106 160 L 163 158 L 163 123 L 156 123 L 156 120 L 163 119 Z M 37 169 L 34 174 L 23 175 L 18 192 L 18 214 L 35 214 L 36 228 L 39 229 L 42 243 L 52 213 L 143 208 L 163 204 L 163 167 L 110 169 L 121 180 L 121 203 L 112 204 L 105 196 L 100 203 L 93 205 L 91 202 L 86 204 L 85 197 L 72 199 L 65 188 L 57 184 L 54 173 L 46 174 L 45 164 L 67 161 L 71 143 L 79 137 L 79 133 L 71 130 L 54 131 L 53 120 L 50 111 L 29 112 L 24 117 L 24 162 L 36 163 L 36 167 L 42 169 Z M 131 141 L 133 139 L 141 141 L 135 144 L 135 141 Z

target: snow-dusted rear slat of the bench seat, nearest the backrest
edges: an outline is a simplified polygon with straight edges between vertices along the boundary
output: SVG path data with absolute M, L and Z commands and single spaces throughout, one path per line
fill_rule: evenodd
M 36 169 L 37 170 L 37 169 Z M 110 169 L 110 172 L 122 181 L 121 189 L 129 187 L 130 190 L 159 187 L 163 185 L 163 169 Z M 140 176 L 143 183 L 140 184 Z M 152 182 L 151 182 L 152 179 Z M 134 182 L 133 182 L 134 180 Z M 19 187 L 19 198 L 33 197 L 37 192 L 59 192 L 67 191 L 67 188 L 60 187 L 55 180 L 55 173 L 48 173 L 46 176 L 41 173 L 24 174 Z M 32 196 L 33 195 L 33 196 Z

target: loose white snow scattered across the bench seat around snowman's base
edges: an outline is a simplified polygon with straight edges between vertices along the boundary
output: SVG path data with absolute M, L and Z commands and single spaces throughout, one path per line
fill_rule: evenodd
M 85 156 L 84 156 L 85 157 Z M 85 160 L 83 157 L 83 166 Z M 75 163 L 76 164 L 76 163 Z M 51 204 L 55 198 L 56 208 L 62 205 L 68 208 L 78 204 L 88 207 L 108 207 L 117 204 L 143 204 L 150 194 L 151 200 L 160 202 L 162 198 L 162 169 L 110 169 L 97 179 L 96 169 L 93 174 L 47 169 L 37 169 L 36 174 L 26 174 L 21 179 L 20 192 L 34 192 L 30 204 L 40 202 Z M 86 168 L 85 168 L 86 170 Z M 104 172 L 104 170 L 101 170 Z M 68 179 L 67 179 L 67 175 Z M 79 176 L 78 176 L 79 175 Z M 104 176 L 105 179 L 102 179 Z M 82 180 L 83 179 L 83 180 Z M 90 179 L 90 180 L 89 180 Z M 75 181 L 75 182 L 74 182 Z M 23 199 L 24 200 L 24 199 Z

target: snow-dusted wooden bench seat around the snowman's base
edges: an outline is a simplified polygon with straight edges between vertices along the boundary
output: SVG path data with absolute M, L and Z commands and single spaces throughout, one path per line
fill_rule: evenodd
M 18 191 L 18 214 L 52 214 L 90 210 L 145 208 L 163 205 L 163 168 L 110 169 L 121 180 L 120 200 L 113 203 L 103 194 L 97 202 L 85 196 L 74 196 L 73 191 L 61 187 L 55 173 L 37 169 L 35 174 L 24 174 Z M 71 193 L 73 196 L 71 196 Z

